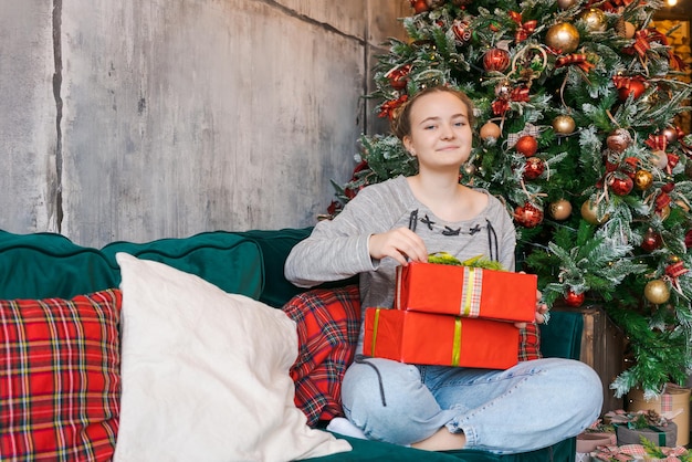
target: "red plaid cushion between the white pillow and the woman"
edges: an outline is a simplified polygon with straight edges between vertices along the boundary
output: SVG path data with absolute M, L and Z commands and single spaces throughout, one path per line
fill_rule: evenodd
M 310 426 L 343 416 L 342 379 L 360 332 L 358 286 L 305 292 L 283 311 L 295 321 L 298 333 L 298 357 L 291 368 L 295 405 Z

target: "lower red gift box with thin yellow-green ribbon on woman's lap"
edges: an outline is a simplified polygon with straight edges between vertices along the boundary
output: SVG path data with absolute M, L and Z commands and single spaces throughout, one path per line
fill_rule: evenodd
M 363 354 L 408 364 L 506 369 L 518 363 L 511 323 L 368 308 Z

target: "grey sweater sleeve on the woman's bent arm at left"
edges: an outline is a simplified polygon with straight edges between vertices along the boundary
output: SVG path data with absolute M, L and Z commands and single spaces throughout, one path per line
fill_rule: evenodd
M 401 202 L 390 185 L 373 185 L 350 200 L 333 220 L 318 222 L 308 238 L 298 242 L 286 259 L 284 273 L 300 287 L 339 281 L 376 271 L 368 242 L 374 233 L 396 223 Z

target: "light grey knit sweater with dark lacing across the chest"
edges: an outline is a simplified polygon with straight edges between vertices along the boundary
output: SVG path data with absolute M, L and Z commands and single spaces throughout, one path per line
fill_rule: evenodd
M 487 207 L 475 218 L 447 222 L 413 197 L 405 177 L 397 177 L 364 188 L 334 220 L 318 222 L 291 251 L 286 279 L 312 287 L 360 274 L 364 315 L 366 307 L 391 307 L 398 263 L 390 258 L 371 259 L 368 241 L 370 234 L 400 227 L 413 229 L 429 253 L 448 252 L 461 261 L 483 255 L 514 271 L 516 234 L 500 200 L 489 195 Z M 361 350 L 361 343 L 363 332 L 356 351 Z

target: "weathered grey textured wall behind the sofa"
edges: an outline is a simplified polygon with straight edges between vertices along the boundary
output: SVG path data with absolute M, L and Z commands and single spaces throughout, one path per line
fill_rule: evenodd
M 0 229 L 83 245 L 314 223 L 408 0 L 3 0 Z

